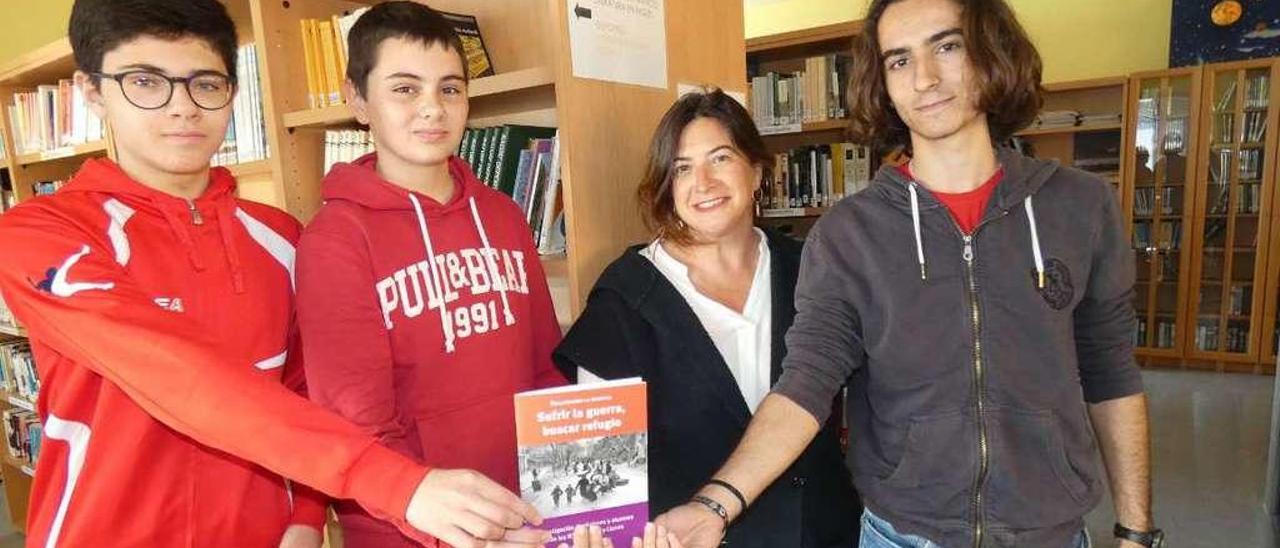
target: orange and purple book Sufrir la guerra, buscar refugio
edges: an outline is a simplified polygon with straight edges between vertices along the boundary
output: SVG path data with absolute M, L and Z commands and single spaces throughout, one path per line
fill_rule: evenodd
M 521 497 L 538 508 L 548 547 L 598 525 L 614 545 L 649 520 L 649 414 L 640 379 L 516 394 Z

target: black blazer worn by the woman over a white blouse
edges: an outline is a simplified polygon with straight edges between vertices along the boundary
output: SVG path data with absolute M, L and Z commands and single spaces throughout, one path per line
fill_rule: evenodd
M 768 232 L 772 380 L 782 373 L 795 319 L 803 245 Z M 692 309 L 635 246 L 600 275 L 586 310 L 556 348 L 570 379 L 577 367 L 604 379 L 649 383 L 649 511 L 682 504 L 724 463 L 751 420 L 737 382 Z M 836 402 L 832 402 L 833 405 Z M 840 414 L 800 458 L 730 528 L 730 547 L 833 548 L 858 544 L 861 504 L 838 443 Z

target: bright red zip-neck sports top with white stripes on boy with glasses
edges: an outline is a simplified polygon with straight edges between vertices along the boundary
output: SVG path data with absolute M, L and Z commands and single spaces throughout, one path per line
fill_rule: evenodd
M 88 160 L 0 215 L 42 385 L 28 547 L 275 547 L 324 520 L 282 475 L 403 517 L 425 469 L 293 392 L 298 224 L 234 189 L 215 168 L 188 202 Z

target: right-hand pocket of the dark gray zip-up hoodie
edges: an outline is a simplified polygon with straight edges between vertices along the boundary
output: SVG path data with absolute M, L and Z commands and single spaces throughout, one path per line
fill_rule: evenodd
M 1052 412 L 1006 408 L 991 417 L 986 494 L 995 521 L 1037 529 L 1088 512 L 1096 481 L 1071 463 Z

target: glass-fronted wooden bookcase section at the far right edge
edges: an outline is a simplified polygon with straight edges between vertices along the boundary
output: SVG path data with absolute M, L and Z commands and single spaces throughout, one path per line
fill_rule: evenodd
M 1276 132 L 1280 60 L 1257 59 L 1203 68 L 1197 170 L 1190 227 L 1192 268 L 1184 323 L 1185 356 L 1219 364 L 1221 370 L 1270 373 L 1275 366 L 1275 287 L 1280 279 L 1274 250 Z M 1257 93 L 1261 86 L 1266 95 Z M 1222 163 L 1225 155 L 1226 161 Z M 1253 174 L 1247 157 L 1257 155 Z M 1225 173 L 1220 173 L 1222 166 Z M 1248 207 L 1248 188 L 1258 191 Z M 1226 191 L 1226 195 L 1221 195 Z M 1196 250 L 1222 248 L 1206 255 Z M 1270 255 L 1270 256 L 1268 256 Z M 1257 283 L 1254 283 L 1257 282 Z M 1228 369 L 1226 365 L 1234 367 Z

